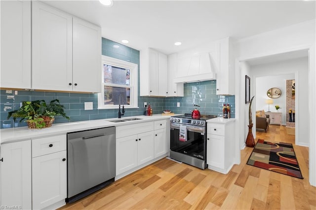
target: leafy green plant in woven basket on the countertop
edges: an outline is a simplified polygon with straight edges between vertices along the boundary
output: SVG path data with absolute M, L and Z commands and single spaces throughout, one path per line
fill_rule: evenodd
M 8 112 L 7 119 L 12 116 L 15 122 L 16 118 L 20 118 L 20 123 L 26 119 L 29 128 L 47 128 L 51 126 L 55 116 L 62 115 L 70 119 L 64 112 L 64 108 L 58 99 L 52 100 L 48 105 L 44 100 L 24 101 L 19 109 Z

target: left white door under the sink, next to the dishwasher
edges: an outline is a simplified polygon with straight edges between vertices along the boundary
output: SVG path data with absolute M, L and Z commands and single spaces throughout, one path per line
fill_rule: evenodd
M 116 175 L 137 166 L 137 135 L 117 139 Z

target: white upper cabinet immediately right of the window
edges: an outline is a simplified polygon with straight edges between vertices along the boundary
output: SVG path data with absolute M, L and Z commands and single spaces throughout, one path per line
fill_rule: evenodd
M 167 56 L 154 49 L 140 51 L 140 96 L 166 96 Z

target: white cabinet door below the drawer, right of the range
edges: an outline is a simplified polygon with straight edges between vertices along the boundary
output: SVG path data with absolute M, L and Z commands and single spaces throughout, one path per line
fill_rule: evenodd
M 224 169 L 225 137 L 207 134 L 207 164 Z

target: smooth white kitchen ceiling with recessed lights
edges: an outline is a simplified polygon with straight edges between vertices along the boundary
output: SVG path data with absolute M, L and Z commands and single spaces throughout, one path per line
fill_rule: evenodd
M 165 54 L 227 36 L 257 35 L 316 18 L 314 0 L 44 0 L 102 28 L 102 36 Z M 175 46 L 180 41 L 182 45 Z

